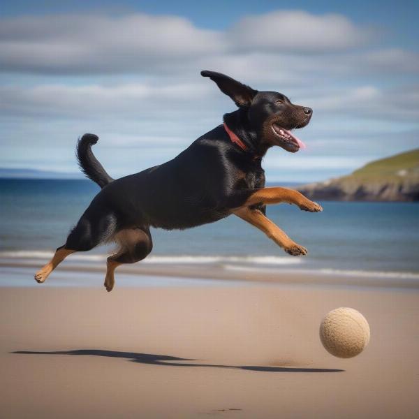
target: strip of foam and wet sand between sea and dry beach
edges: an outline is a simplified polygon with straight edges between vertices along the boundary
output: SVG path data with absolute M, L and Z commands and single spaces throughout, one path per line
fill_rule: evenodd
M 104 260 L 103 260 L 104 262 Z M 44 260 L 4 260 L 0 258 L 0 286 L 3 277 L 7 274 L 17 275 L 19 270 L 24 270 L 24 275 L 29 275 L 28 280 L 36 270 L 45 263 Z M 4 269 L 1 269 L 4 268 Z M 2 272 L 3 271 L 3 272 Z M 8 272 L 5 272 L 8 271 Z M 102 279 L 105 274 L 105 264 L 91 261 L 64 261 L 52 276 L 47 279 L 47 284 L 54 276 L 67 276 L 71 273 L 94 275 Z M 118 274 L 124 277 L 166 277 L 170 279 L 205 279 L 212 281 L 234 281 L 255 284 L 300 284 L 319 286 L 353 286 L 360 288 L 403 288 L 419 290 L 419 273 L 415 272 L 368 272 L 368 271 L 345 271 L 345 270 L 304 270 L 302 268 L 289 268 L 277 266 L 244 266 L 216 265 L 210 263 L 138 263 L 124 265 L 118 268 Z M 22 274 L 23 275 L 23 274 Z M 52 283 L 54 284 L 54 283 Z M 27 286 L 36 286 L 27 282 Z M 77 286 L 75 284 L 74 286 Z

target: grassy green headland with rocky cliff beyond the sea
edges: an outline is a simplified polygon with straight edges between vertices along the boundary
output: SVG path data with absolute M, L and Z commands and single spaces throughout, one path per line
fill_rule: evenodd
M 419 149 L 374 161 L 348 176 L 297 189 L 314 200 L 418 201 Z

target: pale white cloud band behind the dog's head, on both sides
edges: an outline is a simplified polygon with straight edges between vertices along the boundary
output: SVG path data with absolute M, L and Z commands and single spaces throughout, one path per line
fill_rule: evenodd
M 196 75 L 196 82 L 156 85 L 128 83 L 104 86 L 44 84 L 36 87 L 1 87 L 0 111 L 7 115 L 98 119 L 200 120 L 214 115 L 222 100 L 216 85 Z M 374 85 L 323 89 L 313 96 L 308 91 L 302 104 L 314 108 L 316 117 L 330 115 L 416 120 L 419 117 L 419 85 L 378 88 Z M 226 102 L 223 102 L 226 103 Z M 226 110 L 234 110 L 233 103 Z M 221 118 L 221 110 L 217 111 Z

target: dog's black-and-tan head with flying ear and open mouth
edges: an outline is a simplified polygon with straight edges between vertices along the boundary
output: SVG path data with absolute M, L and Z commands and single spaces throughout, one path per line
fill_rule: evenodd
M 306 126 L 313 111 L 306 106 L 294 105 L 277 91 L 257 91 L 214 71 L 201 71 L 203 77 L 216 82 L 219 89 L 233 99 L 245 112 L 250 126 L 256 131 L 258 141 L 267 147 L 279 145 L 295 153 L 303 143 L 291 133 L 294 128 Z

